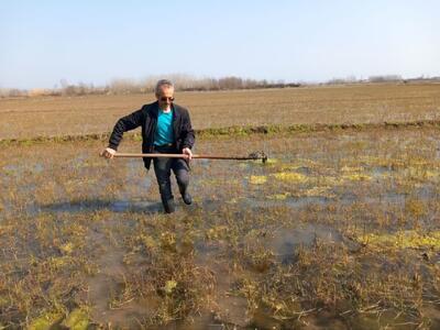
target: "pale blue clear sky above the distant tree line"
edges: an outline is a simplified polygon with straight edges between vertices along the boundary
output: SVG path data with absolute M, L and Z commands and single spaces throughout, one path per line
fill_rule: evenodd
M 0 0 L 0 88 L 440 76 L 440 1 Z

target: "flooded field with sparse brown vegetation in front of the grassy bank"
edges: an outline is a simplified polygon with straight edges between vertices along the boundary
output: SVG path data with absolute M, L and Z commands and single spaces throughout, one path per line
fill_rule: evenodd
M 103 142 L 4 144 L 0 329 L 437 329 L 439 132 L 199 140 L 270 160 L 193 161 L 173 216 Z

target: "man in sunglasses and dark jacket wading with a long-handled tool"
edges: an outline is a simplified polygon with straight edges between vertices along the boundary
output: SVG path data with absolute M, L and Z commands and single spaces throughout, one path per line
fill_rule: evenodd
M 189 161 L 195 142 L 194 130 L 188 110 L 175 105 L 174 86 L 167 79 L 158 80 L 155 88 L 157 101 L 144 105 L 142 109 L 121 118 L 114 125 L 109 146 L 102 151 L 106 158 L 112 158 L 124 132 L 142 127 L 143 153 L 183 153 L 184 158 L 153 158 L 162 204 L 166 213 L 175 210 L 170 185 L 173 169 L 182 198 L 186 205 L 193 202 L 188 193 Z M 151 158 L 144 157 L 144 165 L 150 169 Z

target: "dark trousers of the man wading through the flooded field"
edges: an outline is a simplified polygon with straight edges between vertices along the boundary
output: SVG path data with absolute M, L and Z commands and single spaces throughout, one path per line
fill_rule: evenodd
M 178 153 L 174 146 L 154 146 L 154 152 L 161 154 Z M 153 163 L 163 202 L 174 198 L 170 182 L 172 169 L 176 176 L 180 194 L 186 193 L 189 185 L 189 166 L 184 158 L 153 158 Z

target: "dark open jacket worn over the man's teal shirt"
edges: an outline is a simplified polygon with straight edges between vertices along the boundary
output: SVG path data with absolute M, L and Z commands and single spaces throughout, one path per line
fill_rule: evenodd
M 191 148 L 194 146 L 195 136 L 189 119 L 188 110 L 172 105 L 173 108 L 173 132 L 174 143 L 177 151 L 182 152 L 184 147 Z M 142 128 L 142 152 L 152 153 L 154 146 L 154 133 L 157 127 L 158 102 L 144 105 L 141 110 L 125 116 L 118 120 L 110 135 L 109 147 L 118 150 L 118 145 L 122 140 L 122 135 L 127 131 Z M 144 157 L 146 168 L 150 168 L 151 158 Z

